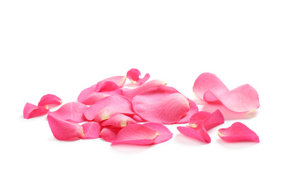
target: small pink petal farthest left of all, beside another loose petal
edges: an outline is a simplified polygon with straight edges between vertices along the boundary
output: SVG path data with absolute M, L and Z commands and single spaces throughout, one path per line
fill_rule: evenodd
M 23 118 L 29 119 L 40 115 L 45 115 L 48 113 L 48 111 L 48 106 L 35 106 L 32 103 L 25 103 L 25 107 L 23 108 Z

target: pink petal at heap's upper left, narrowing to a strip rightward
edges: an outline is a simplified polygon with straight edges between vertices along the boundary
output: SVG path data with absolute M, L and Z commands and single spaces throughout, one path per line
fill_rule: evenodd
M 84 89 L 78 96 L 78 101 L 84 103 L 85 105 L 93 105 L 96 101 L 103 99 L 107 96 L 122 94 L 121 89 L 116 89 L 110 92 L 96 92 L 96 84 L 93 86 Z

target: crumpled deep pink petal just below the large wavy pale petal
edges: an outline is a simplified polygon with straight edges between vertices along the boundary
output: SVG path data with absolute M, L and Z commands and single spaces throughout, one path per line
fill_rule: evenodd
M 199 111 L 192 115 L 190 118 L 190 126 L 194 127 L 200 122 L 203 123 L 205 130 L 210 130 L 218 125 L 224 124 L 224 115 L 217 109 L 214 113 L 208 113 L 206 111 Z

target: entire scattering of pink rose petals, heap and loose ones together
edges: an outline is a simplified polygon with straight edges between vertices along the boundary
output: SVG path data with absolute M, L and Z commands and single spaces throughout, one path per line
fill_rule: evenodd
M 62 141 L 102 138 L 115 144 L 150 145 L 168 141 L 173 134 L 165 125 L 178 126 L 180 133 L 210 143 L 208 130 L 224 124 L 219 110 L 214 113 L 199 111 L 196 103 L 166 86 L 161 80 L 151 80 L 146 74 L 132 68 L 125 76 L 109 77 L 83 89 L 78 101 L 59 106 L 59 97 L 42 96 L 37 106 L 26 103 L 23 117 L 34 118 L 47 114 L 53 136 Z M 125 84 L 127 78 L 130 84 Z M 129 87 L 127 87 L 129 86 Z M 130 88 L 132 86 L 132 88 Z M 216 75 L 202 73 L 195 80 L 193 92 L 207 102 L 220 102 L 236 113 L 248 113 L 260 107 L 258 93 L 249 84 L 229 90 Z M 224 141 L 255 141 L 255 132 L 235 122 L 218 130 Z

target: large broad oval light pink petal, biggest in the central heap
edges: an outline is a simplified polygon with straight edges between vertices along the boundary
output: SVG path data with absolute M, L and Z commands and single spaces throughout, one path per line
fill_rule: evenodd
M 190 109 L 187 98 L 172 87 L 154 87 L 134 96 L 134 111 L 149 122 L 176 123 Z

